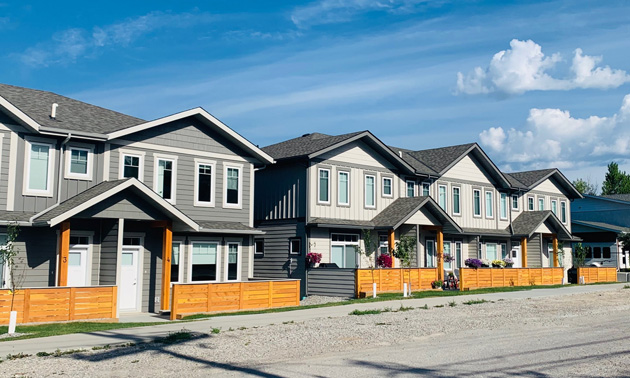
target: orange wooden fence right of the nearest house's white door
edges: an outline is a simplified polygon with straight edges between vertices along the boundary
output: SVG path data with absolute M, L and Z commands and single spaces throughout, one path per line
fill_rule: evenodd
M 300 280 L 175 284 L 171 320 L 205 312 L 299 306 Z

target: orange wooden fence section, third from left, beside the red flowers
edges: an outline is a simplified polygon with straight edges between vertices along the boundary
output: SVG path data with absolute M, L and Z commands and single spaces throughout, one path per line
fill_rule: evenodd
M 374 272 L 372 269 L 357 269 L 356 294 L 357 297 L 361 297 L 371 293 L 373 282 L 376 282 L 376 291 L 383 293 L 402 292 L 405 282 L 411 282 L 411 290 L 430 289 L 434 280 L 437 280 L 437 268 L 386 268 L 374 269 Z

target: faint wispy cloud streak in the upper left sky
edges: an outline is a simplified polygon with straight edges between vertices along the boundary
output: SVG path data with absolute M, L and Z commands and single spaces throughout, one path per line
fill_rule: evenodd
M 31 67 L 69 64 L 107 46 L 129 46 L 159 29 L 186 28 L 212 20 L 213 17 L 208 13 L 151 12 L 115 24 L 94 26 L 92 30 L 66 29 L 55 33 L 50 41 L 39 43 L 14 56 Z

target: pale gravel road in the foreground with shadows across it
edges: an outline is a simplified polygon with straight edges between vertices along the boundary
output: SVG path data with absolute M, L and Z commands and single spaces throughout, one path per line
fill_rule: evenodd
M 628 289 L 393 307 L 376 315 L 208 330 L 173 345 L 5 360 L 0 376 L 628 377 L 629 315 Z

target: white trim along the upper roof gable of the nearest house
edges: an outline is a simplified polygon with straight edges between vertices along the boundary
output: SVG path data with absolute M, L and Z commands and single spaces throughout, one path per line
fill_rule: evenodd
M 253 145 L 250 141 L 240 136 L 237 132 L 230 129 L 227 125 L 225 125 L 223 122 L 213 117 L 210 113 L 208 113 L 202 108 L 194 108 L 194 109 L 186 110 L 186 111 L 176 113 L 167 117 L 158 118 L 153 121 L 145 122 L 140 125 L 128 127 L 126 129 L 119 130 L 119 131 L 115 131 L 113 133 L 109 133 L 107 135 L 107 139 L 110 140 L 110 139 L 120 138 L 125 135 L 133 134 L 142 130 L 146 130 L 155 126 L 168 123 L 168 122 L 173 122 L 173 121 L 177 121 L 186 117 L 196 116 L 196 115 L 199 115 L 203 117 L 205 120 L 210 121 L 210 123 L 214 124 L 219 129 L 220 132 L 226 134 L 231 139 L 236 140 L 243 147 L 245 147 L 245 149 L 248 149 L 250 150 L 251 153 L 253 153 L 254 155 L 257 155 L 258 158 L 261 159 L 262 163 L 271 164 L 274 162 L 274 159 L 271 156 L 267 155 L 260 148 Z

